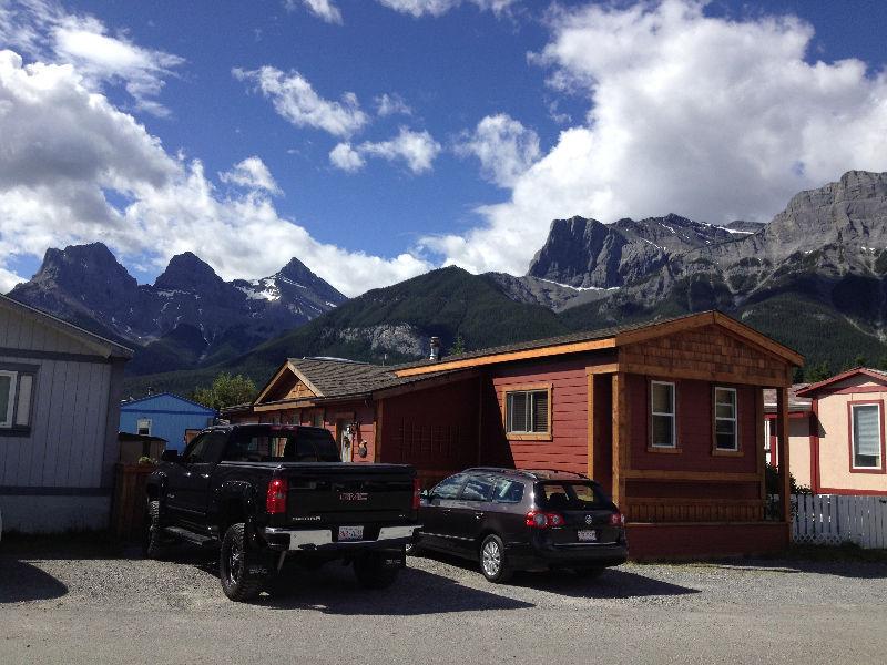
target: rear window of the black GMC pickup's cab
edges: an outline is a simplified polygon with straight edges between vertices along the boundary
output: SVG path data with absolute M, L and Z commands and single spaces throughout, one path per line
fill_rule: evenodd
M 337 462 L 336 441 L 327 430 L 255 427 L 235 430 L 225 449 L 233 462 Z

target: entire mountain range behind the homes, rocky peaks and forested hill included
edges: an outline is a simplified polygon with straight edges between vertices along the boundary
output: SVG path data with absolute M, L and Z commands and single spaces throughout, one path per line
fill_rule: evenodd
M 226 283 L 184 254 L 146 286 L 86 245 L 50 249 L 10 295 L 136 344 L 134 392 L 187 391 L 218 371 L 263 382 L 288 356 L 395 364 L 431 336 L 470 350 L 710 308 L 837 370 L 887 356 L 887 173 L 848 172 L 767 224 L 555 219 L 519 277 L 448 267 L 346 300 L 297 259 Z

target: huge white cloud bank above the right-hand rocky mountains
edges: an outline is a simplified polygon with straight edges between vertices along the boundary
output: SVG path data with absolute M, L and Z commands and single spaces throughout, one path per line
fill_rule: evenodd
M 520 274 L 557 217 L 767 219 L 847 170 L 887 171 L 887 75 L 807 62 L 813 28 L 796 18 L 667 0 L 563 10 L 551 31 L 536 60 L 588 96 L 588 116 L 483 225 L 424 239 L 447 263 Z

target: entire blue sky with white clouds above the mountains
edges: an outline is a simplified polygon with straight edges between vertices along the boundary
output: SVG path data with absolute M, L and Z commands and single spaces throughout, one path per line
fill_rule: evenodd
M 527 272 L 551 221 L 767 222 L 887 171 L 885 2 L 0 0 L 0 291 L 292 257 Z

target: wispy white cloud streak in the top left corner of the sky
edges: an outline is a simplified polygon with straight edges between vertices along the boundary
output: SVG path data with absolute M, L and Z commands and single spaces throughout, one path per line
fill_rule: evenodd
M 184 59 L 145 49 L 125 34 L 111 35 L 89 14 L 68 13 L 52 0 L 19 0 L 0 6 L 0 43 L 34 60 L 68 63 L 92 88 L 122 84 L 137 109 L 155 115 L 169 110 L 156 101 L 164 79 Z

